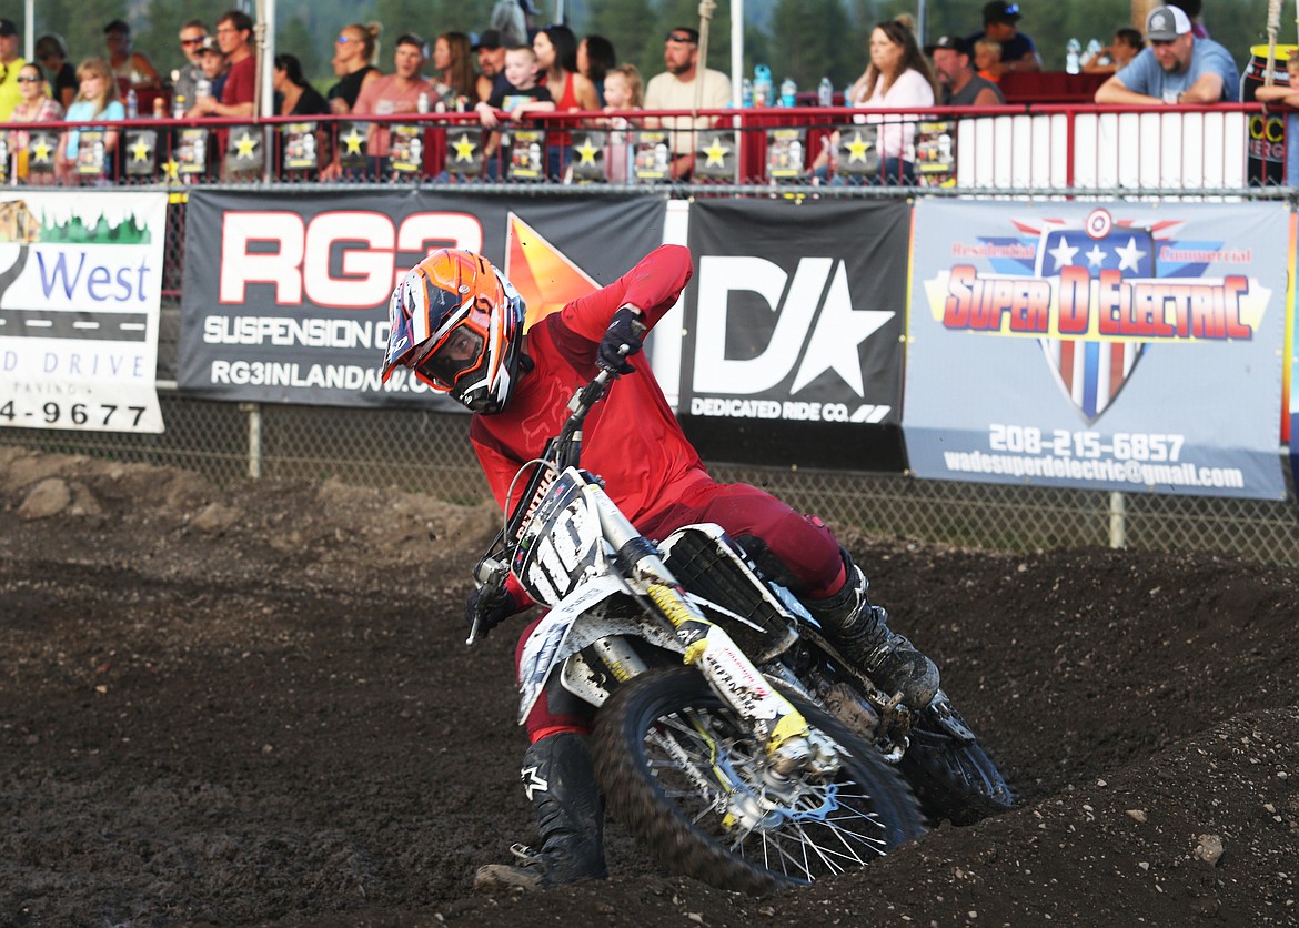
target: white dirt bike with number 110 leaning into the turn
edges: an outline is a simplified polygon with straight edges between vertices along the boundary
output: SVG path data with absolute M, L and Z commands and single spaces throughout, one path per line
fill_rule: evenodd
M 1009 807 L 942 690 L 914 707 L 877 689 L 718 526 L 657 544 L 634 528 L 581 469 L 609 376 L 574 395 L 520 470 L 520 504 L 475 568 L 479 597 L 504 596 L 513 574 L 549 607 L 523 646 L 520 722 L 556 675 L 599 707 L 609 812 L 666 870 L 724 889 L 811 883 L 920 836 L 926 815 Z M 477 635 L 474 622 L 468 644 Z

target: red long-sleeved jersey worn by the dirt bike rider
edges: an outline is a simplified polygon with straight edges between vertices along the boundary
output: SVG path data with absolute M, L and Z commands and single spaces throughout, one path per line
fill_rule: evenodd
M 625 304 L 639 308 L 653 327 L 690 282 L 690 250 L 662 245 L 603 289 L 568 304 L 527 332 L 523 371 L 500 413 L 473 417 L 469 437 L 496 501 L 504 507 L 509 484 L 525 461 L 540 457 L 568 419 L 568 401 L 595 376 L 595 356 L 609 322 Z M 582 427 L 582 467 L 608 480 L 609 496 L 639 523 L 670 506 L 669 488 L 705 478 L 699 454 L 686 440 L 644 356 L 634 374 L 612 382 Z M 526 361 L 525 361 L 526 365 Z M 707 479 L 707 478 L 705 478 Z M 523 480 L 514 493 L 523 491 Z M 517 506 L 511 500 L 509 506 Z

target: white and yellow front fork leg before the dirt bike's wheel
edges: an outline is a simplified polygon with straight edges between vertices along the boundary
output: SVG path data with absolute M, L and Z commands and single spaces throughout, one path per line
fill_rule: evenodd
M 781 775 L 805 770 L 838 770 L 835 744 L 812 728 L 794 703 L 768 684 L 766 678 L 731 640 L 691 602 L 668 570 L 657 549 L 599 488 L 587 492 L 600 515 L 600 527 L 614 546 L 622 576 L 631 589 L 650 600 L 675 629 L 685 646 L 685 662 L 696 667 L 713 690 L 764 741 L 773 770 Z

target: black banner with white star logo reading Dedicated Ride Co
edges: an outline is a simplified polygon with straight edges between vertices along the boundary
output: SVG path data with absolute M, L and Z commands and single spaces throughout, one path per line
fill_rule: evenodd
M 699 200 L 681 415 L 705 457 L 900 470 L 905 202 Z

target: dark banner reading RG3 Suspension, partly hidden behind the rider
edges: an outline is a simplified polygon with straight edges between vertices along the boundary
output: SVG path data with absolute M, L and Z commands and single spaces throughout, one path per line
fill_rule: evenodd
M 195 191 L 186 222 L 179 384 L 221 400 L 462 409 L 397 369 L 388 297 L 440 247 L 482 252 L 529 322 L 612 283 L 662 243 L 664 201 L 401 191 Z

